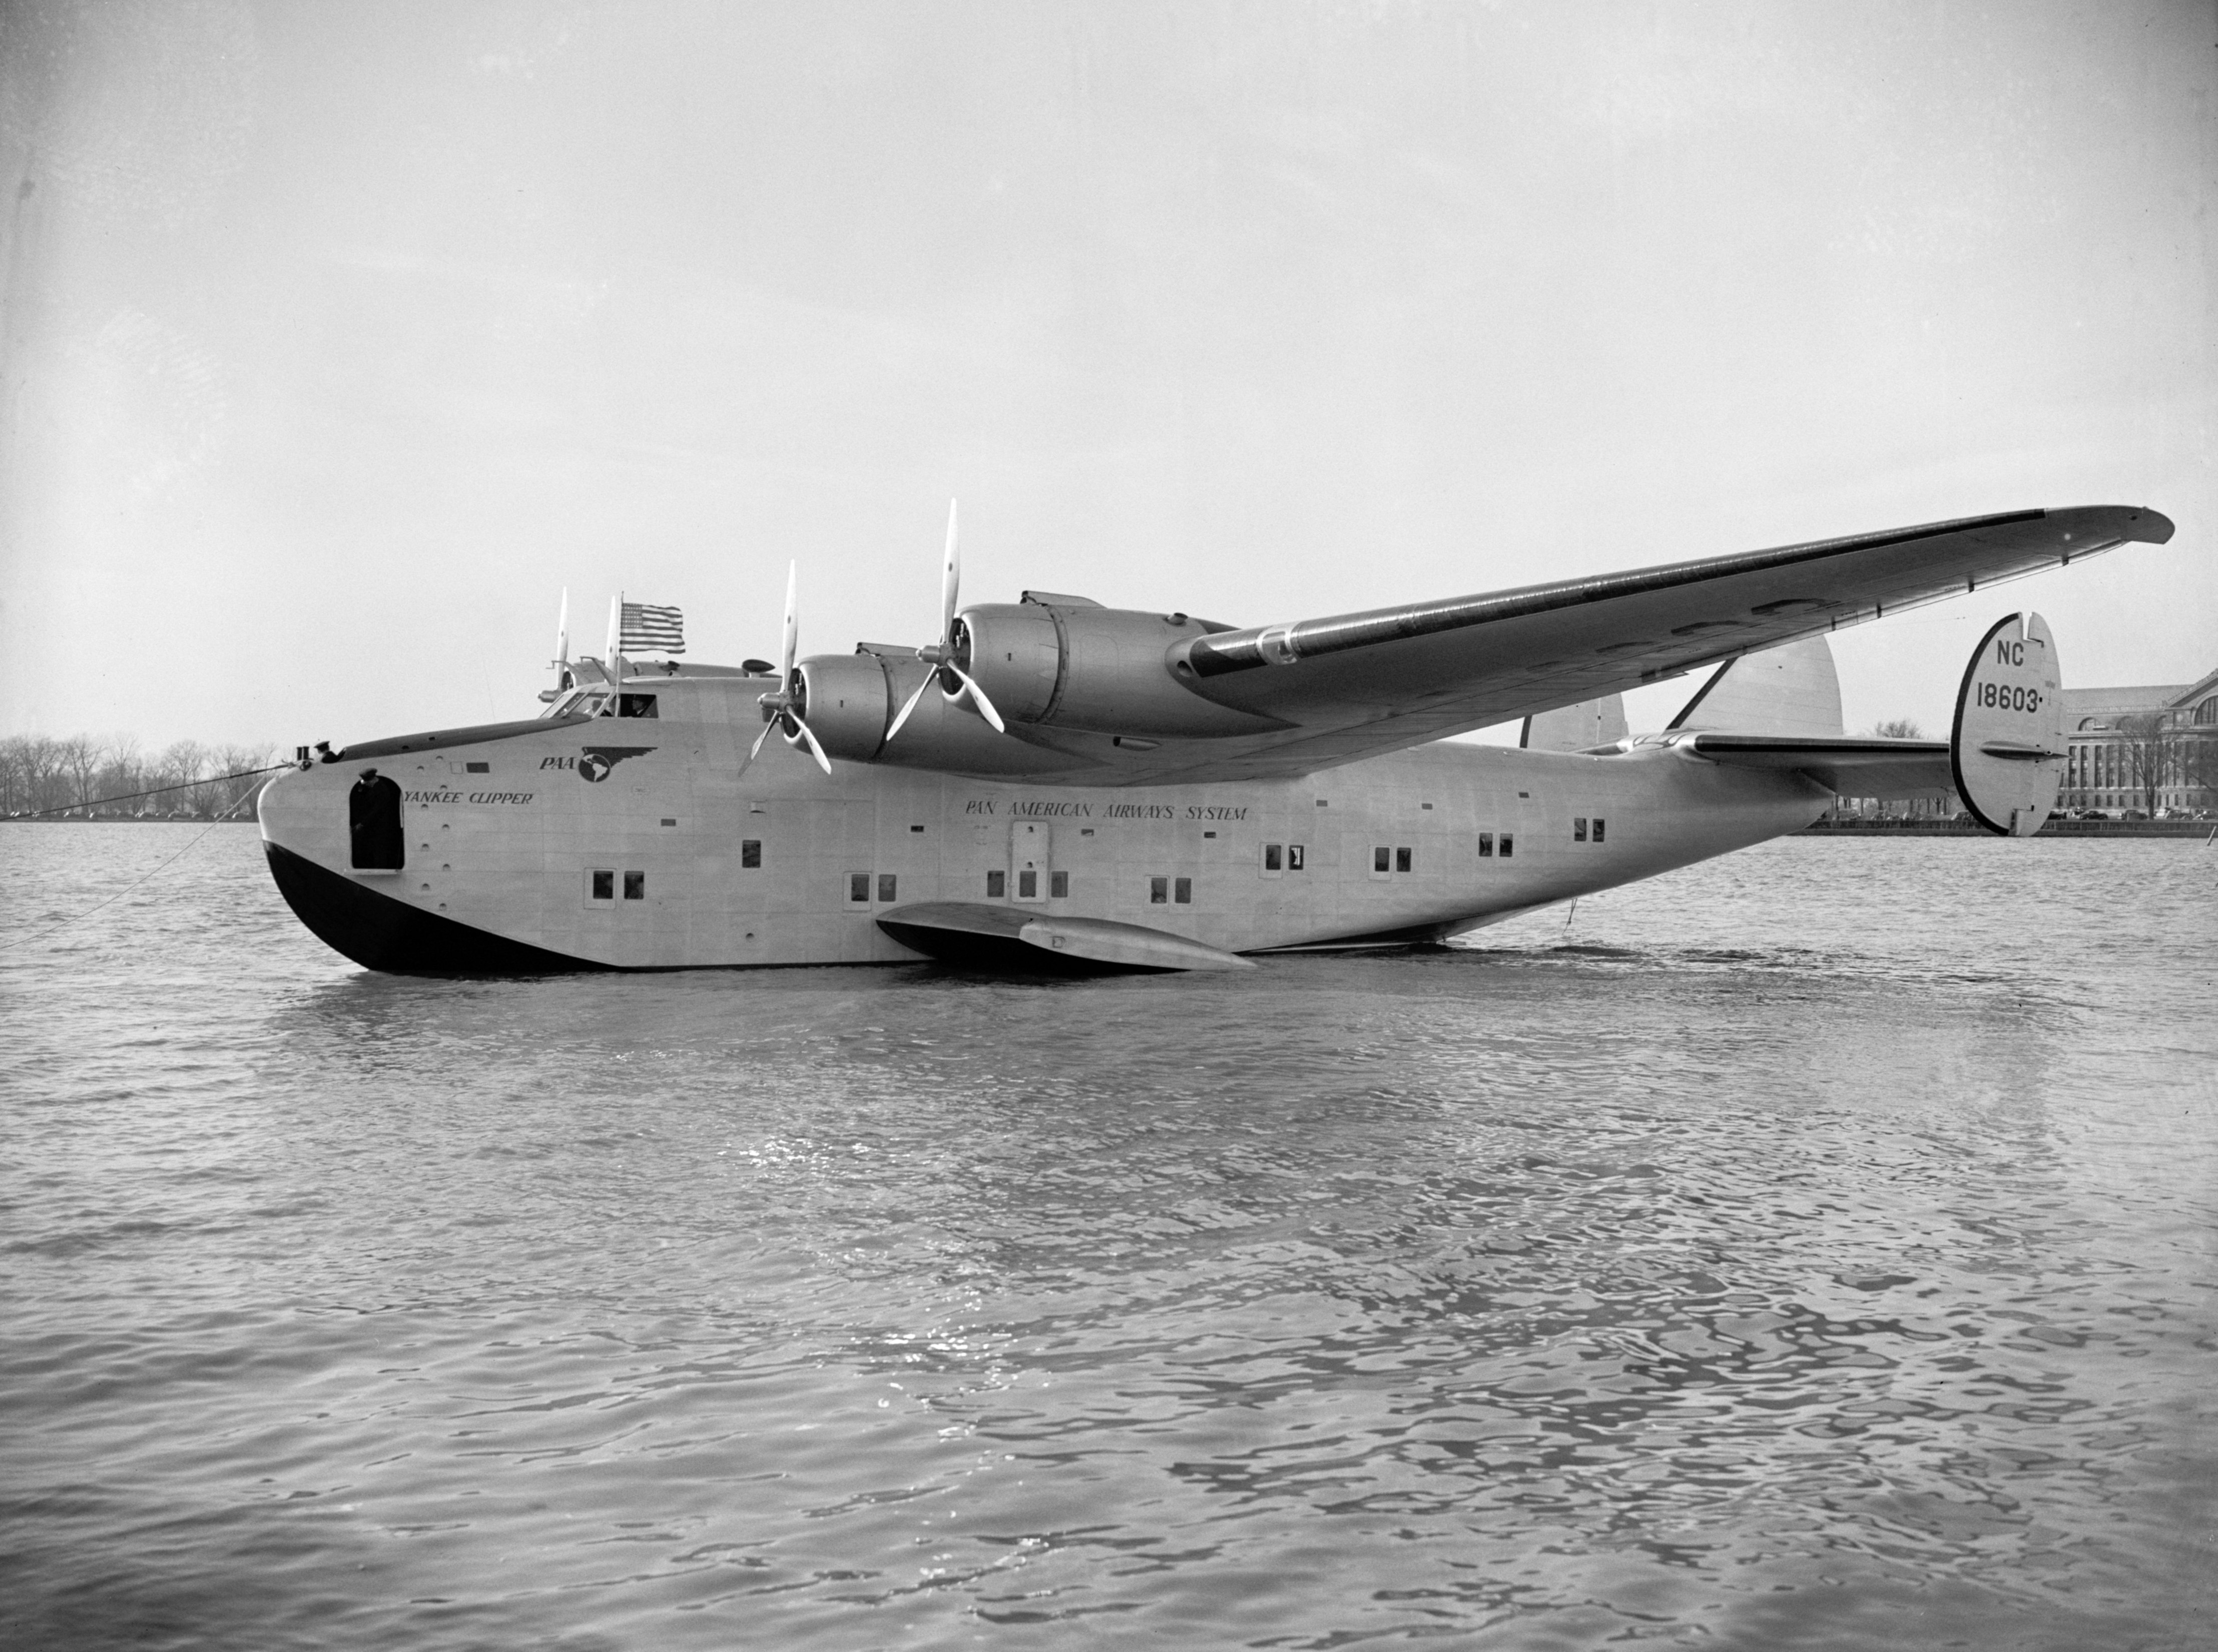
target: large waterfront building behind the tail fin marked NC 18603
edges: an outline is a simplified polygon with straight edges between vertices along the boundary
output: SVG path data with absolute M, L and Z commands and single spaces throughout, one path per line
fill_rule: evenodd
M 2218 809 L 2218 670 L 2194 683 L 2065 690 L 2058 809 Z

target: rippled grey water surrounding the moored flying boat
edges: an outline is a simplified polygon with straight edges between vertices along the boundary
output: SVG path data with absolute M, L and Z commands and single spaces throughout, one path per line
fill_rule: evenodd
M 441 985 L 0 827 L 0 1641 L 2205 1645 L 2218 852 Z

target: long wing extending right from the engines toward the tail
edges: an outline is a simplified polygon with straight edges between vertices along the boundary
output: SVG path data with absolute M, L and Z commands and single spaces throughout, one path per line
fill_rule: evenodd
M 1107 738 L 1042 743 L 1087 747 L 1107 769 L 1091 783 L 1291 778 L 2167 539 L 2171 521 L 2131 506 L 2018 510 L 1215 632 L 1173 647 L 1173 674 L 1291 727 L 1144 754 L 1107 752 Z

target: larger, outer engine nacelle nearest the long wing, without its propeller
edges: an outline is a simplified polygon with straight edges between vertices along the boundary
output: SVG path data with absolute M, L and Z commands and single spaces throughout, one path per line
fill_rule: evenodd
M 1034 596 L 965 608 L 956 663 L 978 679 L 994 710 L 1011 723 L 1167 738 L 1286 727 L 1271 716 L 1204 701 L 1171 676 L 1167 652 L 1209 630 L 1187 614 L 1080 608 Z

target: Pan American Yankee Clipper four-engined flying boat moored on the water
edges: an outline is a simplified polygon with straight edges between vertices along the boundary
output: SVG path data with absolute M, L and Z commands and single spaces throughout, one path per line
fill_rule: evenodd
M 685 663 L 645 605 L 570 659 L 566 599 L 539 716 L 299 747 L 262 838 L 299 920 L 395 973 L 1231 971 L 1444 942 L 1841 794 L 1956 792 L 2032 836 L 2065 749 L 2038 614 L 1985 632 L 1947 741 L 1845 734 L 1825 639 L 2171 530 L 2016 510 L 1227 625 L 1047 590 L 965 608 L 949 508 L 923 647 L 796 659 L 790 572 L 776 663 Z M 1628 732 L 1624 694 L 1675 676 L 1699 681 L 1683 710 Z M 1451 738 L 1519 718 L 1517 747 Z

